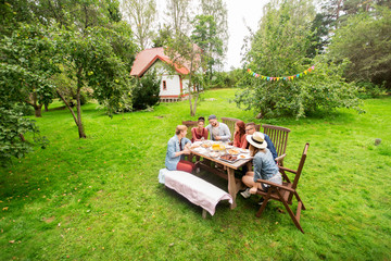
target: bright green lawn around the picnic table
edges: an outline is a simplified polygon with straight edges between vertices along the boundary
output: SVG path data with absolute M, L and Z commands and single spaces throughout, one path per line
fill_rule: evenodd
M 50 146 L 0 169 L 0 260 L 390 259 L 389 97 L 366 100 L 365 114 L 341 109 L 262 122 L 291 128 L 288 167 L 311 144 L 299 183 L 305 234 L 279 202 L 257 219 L 257 199 L 238 195 L 235 210 L 222 202 L 203 220 L 199 207 L 157 183 L 166 142 L 182 120 L 214 113 L 260 123 L 229 103 L 235 91 L 205 92 L 194 117 L 188 101 L 113 119 L 89 103 L 87 139 L 78 139 L 68 111 L 45 112 L 37 124 Z

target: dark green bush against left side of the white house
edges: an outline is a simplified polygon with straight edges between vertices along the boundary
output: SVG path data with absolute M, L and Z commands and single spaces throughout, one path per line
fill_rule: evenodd
M 144 110 L 155 105 L 159 100 L 161 78 L 155 72 L 149 72 L 142 78 L 136 78 L 136 86 L 133 89 L 133 109 Z

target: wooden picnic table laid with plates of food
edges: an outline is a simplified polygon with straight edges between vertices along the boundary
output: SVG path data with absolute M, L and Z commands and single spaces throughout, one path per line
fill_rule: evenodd
M 219 141 L 212 141 L 212 140 L 194 142 L 190 148 L 190 151 L 192 154 L 199 156 L 199 160 L 197 160 L 195 165 L 206 170 L 207 172 L 217 174 L 218 176 L 225 179 L 228 179 L 228 192 L 232 197 L 232 203 L 230 208 L 235 209 L 237 207 L 236 196 L 243 186 L 240 178 L 235 178 L 235 171 L 239 170 L 241 166 L 245 164 L 249 166 L 249 170 L 251 170 L 252 158 L 249 156 L 249 152 L 244 152 L 245 150 L 241 150 L 240 148 L 236 148 L 224 144 L 222 144 L 222 147 L 225 147 L 225 149 L 220 150 L 219 152 L 220 156 L 213 157 L 214 151 L 211 148 L 212 146 L 207 148 L 202 147 L 202 145 L 205 145 L 207 142 L 210 142 L 211 145 L 222 144 Z M 199 145 L 199 147 L 197 145 Z M 239 154 L 237 156 L 237 160 L 228 161 L 220 158 L 223 154 L 228 154 L 228 151 L 231 149 L 239 151 Z M 241 156 L 244 156 L 244 158 L 241 158 Z M 213 166 L 212 163 L 215 163 L 215 166 Z

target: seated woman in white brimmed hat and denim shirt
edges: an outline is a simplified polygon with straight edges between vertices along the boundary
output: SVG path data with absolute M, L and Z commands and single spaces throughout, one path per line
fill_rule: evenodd
M 265 141 L 264 134 L 255 132 L 253 135 L 248 135 L 247 140 L 250 144 L 250 156 L 254 157 L 254 172 L 248 172 L 242 177 L 242 182 L 249 187 L 241 192 L 244 198 L 249 198 L 251 194 L 256 194 L 257 189 L 267 190 L 267 185 L 256 183 L 258 178 L 282 185 L 282 177 L 278 166 L 273 159 L 272 152 L 266 148 L 267 142 Z M 262 202 L 263 198 L 258 203 Z

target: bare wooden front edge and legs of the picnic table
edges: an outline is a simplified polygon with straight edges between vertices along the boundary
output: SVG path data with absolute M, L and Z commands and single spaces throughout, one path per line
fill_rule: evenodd
M 239 150 L 239 148 L 236 148 Z M 202 169 L 205 169 L 209 172 L 212 172 L 214 174 L 217 174 L 218 176 L 228 179 L 228 192 L 232 197 L 232 203 L 230 206 L 231 209 L 235 209 L 237 207 L 236 203 L 236 196 L 239 191 L 239 189 L 242 187 L 242 182 L 239 178 L 235 178 L 235 170 L 238 170 L 242 165 L 248 164 L 249 170 L 251 170 L 252 166 L 252 158 L 250 159 L 240 159 L 234 163 L 228 163 L 226 161 L 219 160 L 218 158 L 213 158 L 209 154 L 209 149 L 198 151 L 197 149 L 190 149 L 192 154 L 199 156 L 203 158 L 203 160 L 198 161 L 195 164 Z M 224 169 L 220 167 L 213 167 L 210 164 L 207 164 L 207 161 L 215 162 L 224 166 Z

